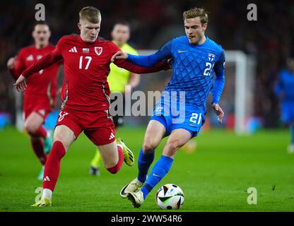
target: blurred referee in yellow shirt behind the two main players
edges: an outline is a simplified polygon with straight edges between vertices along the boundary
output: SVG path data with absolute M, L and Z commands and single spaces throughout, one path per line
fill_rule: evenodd
M 131 37 L 131 26 L 126 22 L 118 22 L 114 24 L 111 32 L 112 42 L 122 49 L 122 51 L 128 54 L 137 55 L 136 49 L 131 47 L 127 42 Z M 135 88 L 140 83 L 140 75 L 127 71 L 126 69 L 119 68 L 115 64 L 110 64 L 110 74 L 107 77 L 107 82 L 110 85 L 110 93 L 131 93 L 131 89 Z M 127 86 L 126 86 L 127 85 Z M 125 90 L 127 88 L 127 90 Z M 111 99 L 110 102 L 117 100 Z M 112 115 L 115 129 L 118 126 L 122 126 L 124 123 L 124 117 L 122 115 Z M 99 176 L 100 175 L 100 163 L 101 157 L 99 151 L 95 153 L 95 157 L 90 162 L 90 174 Z

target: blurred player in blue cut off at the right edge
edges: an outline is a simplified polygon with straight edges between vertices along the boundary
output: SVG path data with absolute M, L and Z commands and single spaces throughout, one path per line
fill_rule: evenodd
M 287 69 L 280 72 L 275 93 L 280 101 L 281 119 L 290 129 L 288 153 L 294 153 L 294 58 L 286 61 Z

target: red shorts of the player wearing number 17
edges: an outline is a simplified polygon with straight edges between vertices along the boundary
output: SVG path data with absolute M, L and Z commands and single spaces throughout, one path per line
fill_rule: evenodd
M 62 109 L 56 126 L 64 125 L 76 138 L 83 131 L 95 145 L 107 145 L 115 140 L 115 128 L 108 111 L 83 112 Z

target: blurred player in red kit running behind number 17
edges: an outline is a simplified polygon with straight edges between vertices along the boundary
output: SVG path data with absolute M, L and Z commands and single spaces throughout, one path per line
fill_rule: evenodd
M 32 36 L 35 44 L 20 49 L 17 57 L 8 59 L 7 67 L 14 79 L 38 59 L 51 52 L 55 47 L 49 43 L 51 32 L 45 22 L 34 25 Z M 25 131 L 30 135 L 30 143 L 40 160 L 42 169 L 38 176 L 42 180 L 47 154 L 51 150 L 52 135 L 42 126 L 49 112 L 54 109 L 57 90 L 57 71 L 59 64 L 38 71 L 28 78 L 28 87 L 23 97 Z

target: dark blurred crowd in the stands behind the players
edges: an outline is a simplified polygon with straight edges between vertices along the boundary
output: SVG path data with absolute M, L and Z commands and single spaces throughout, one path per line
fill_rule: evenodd
M 118 20 L 131 24 L 130 43 L 136 49 L 158 49 L 165 42 L 184 35 L 182 13 L 192 6 L 209 13 L 206 35 L 224 49 L 239 49 L 256 59 L 254 115 L 264 126 L 279 125 L 278 101 L 274 83 L 286 57 L 294 51 L 293 1 L 1 1 L 0 2 L 0 112 L 14 114 L 13 78 L 6 69 L 9 57 L 21 47 L 33 44 L 31 31 L 35 5 L 45 4 L 46 21 L 52 30 L 51 42 L 63 35 L 78 33 L 78 11 L 95 6 L 102 13 L 100 36 L 110 39 L 112 25 Z M 257 4 L 257 21 L 247 20 L 247 4 Z

